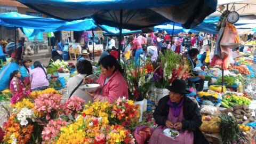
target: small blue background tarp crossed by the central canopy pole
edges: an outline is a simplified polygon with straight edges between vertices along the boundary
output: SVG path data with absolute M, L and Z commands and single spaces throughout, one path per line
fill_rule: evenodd
M 109 27 L 106 25 L 99 25 L 99 27 L 103 30 L 103 35 L 106 36 L 118 36 L 119 35 L 119 29 L 114 27 Z M 134 33 L 142 33 L 142 30 L 127 30 L 122 29 L 122 35 L 131 35 Z

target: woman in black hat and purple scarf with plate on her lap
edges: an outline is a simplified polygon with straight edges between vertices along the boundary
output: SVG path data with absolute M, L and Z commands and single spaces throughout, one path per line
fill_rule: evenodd
M 186 90 L 186 82 L 174 79 L 166 89 L 170 90 L 169 95 L 159 100 L 153 114 L 158 127 L 151 135 L 149 144 L 209 143 L 199 130 L 202 117 L 196 103 L 185 96 L 190 93 Z M 167 137 L 163 133 L 167 128 L 179 131 L 180 135 L 175 139 Z

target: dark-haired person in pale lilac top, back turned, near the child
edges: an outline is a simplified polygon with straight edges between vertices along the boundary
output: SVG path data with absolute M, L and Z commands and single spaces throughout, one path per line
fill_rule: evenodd
M 30 71 L 31 90 L 43 91 L 49 87 L 46 69 L 41 65 L 41 62 L 34 62 L 34 69 Z

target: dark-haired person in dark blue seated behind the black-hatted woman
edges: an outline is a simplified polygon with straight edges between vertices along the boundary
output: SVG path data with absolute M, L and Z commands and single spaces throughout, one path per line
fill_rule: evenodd
M 199 51 L 197 49 L 191 49 L 188 52 L 188 57 L 187 59 L 190 61 L 190 66 L 194 69 L 196 67 L 196 63 L 198 61 L 197 55 L 199 54 Z M 188 78 L 188 85 L 193 86 L 193 83 L 195 83 L 196 90 L 197 91 L 203 91 L 204 88 L 204 76 L 205 72 L 203 71 L 202 73 L 197 73 L 196 71 L 192 70 L 193 75 L 196 76 Z

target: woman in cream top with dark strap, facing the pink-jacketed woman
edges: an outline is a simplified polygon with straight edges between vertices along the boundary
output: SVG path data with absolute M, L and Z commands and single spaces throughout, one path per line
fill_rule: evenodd
M 74 95 L 78 98 L 84 99 L 85 102 L 88 103 L 89 101 L 93 100 L 92 97 L 90 97 L 90 95 L 85 93 L 83 90 L 79 88 L 75 90 L 75 88 L 77 87 L 77 85 L 79 85 L 79 83 L 83 80 L 84 77 L 92 74 L 91 62 L 88 60 L 79 60 L 76 63 L 76 69 L 77 69 L 77 75 L 71 77 L 67 82 L 68 96 L 70 97 L 70 94 L 73 93 L 71 97 L 73 97 Z

